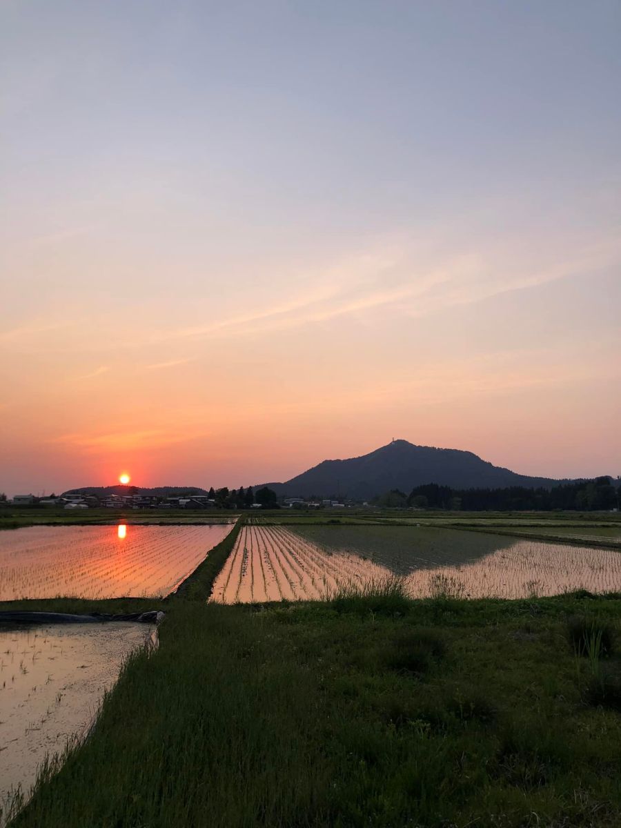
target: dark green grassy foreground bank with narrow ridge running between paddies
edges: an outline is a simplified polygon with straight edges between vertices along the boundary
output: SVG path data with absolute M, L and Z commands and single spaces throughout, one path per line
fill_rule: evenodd
M 16 828 L 619 826 L 621 596 L 205 604 L 224 551 Z

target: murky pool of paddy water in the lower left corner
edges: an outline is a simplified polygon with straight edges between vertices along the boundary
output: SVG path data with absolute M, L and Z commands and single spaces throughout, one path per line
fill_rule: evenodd
M 28 795 L 47 753 L 83 735 L 124 659 L 151 639 L 138 623 L 0 626 L 0 806 Z M 0 816 L 0 826 L 3 825 Z

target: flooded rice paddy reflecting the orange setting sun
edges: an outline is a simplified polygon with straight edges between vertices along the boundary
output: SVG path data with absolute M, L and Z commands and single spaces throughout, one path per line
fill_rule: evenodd
M 0 600 L 168 595 L 232 528 L 121 524 L 0 532 Z

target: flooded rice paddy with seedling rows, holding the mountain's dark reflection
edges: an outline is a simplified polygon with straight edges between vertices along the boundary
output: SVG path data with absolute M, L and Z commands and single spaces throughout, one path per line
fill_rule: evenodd
M 430 527 L 246 526 L 214 584 L 227 604 L 325 598 L 402 575 L 412 597 L 523 598 L 621 590 L 621 554 Z

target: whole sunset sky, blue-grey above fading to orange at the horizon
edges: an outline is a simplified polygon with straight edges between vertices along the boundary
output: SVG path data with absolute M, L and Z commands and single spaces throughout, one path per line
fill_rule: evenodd
M 0 491 L 621 474 L 621 5 L 0 5 Z

